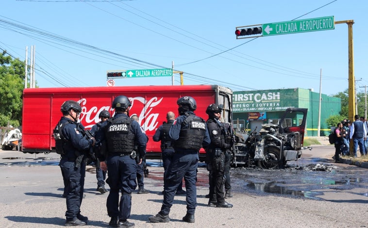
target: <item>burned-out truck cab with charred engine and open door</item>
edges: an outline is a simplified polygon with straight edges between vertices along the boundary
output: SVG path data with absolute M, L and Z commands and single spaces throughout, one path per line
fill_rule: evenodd
M 232 165 L 276 169 L 284 167 L 288 161 L 300 159 L 307 111 L 306 108 L 288 108 L 278 124 L 262 124 L 259 131 L 236 130 Z M 301 121 L 283 126 L 285 119 L 296 117 Z

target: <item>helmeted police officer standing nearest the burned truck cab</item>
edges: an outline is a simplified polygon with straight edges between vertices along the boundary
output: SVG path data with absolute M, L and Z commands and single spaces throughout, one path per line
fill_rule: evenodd
M 211 144 L 207 149 L 209 156 L 209 163 L 211 165 L 210 172 L 210 199 L 208 206 L 215 206 L 220 208 L 232 208 L 233 205 L 227 203 L 224 199 L 224 181 L 226 154 L 229 153 L 227 149 L 231 144 L 226 142 L 227 132 L 229 126 L 220 122 L 222 107 L 218 104 L 210 104 L 207 107 L 208 114 L 207 127 L 211 138 Z M 228 156 L 229 157 L 229 156 Z M 229 159 L 229 158 L 228 158 Z M 230 163 L 230 159 L 228 161 Z M 215 198 L 216 195 L 216 198 Z

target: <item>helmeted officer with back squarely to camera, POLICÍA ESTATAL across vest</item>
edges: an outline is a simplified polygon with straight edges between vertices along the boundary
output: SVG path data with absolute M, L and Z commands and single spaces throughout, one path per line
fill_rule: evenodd
M 137 144 L 137 153 L 144 156 L 147 137 L 140 129 L 139 124 L 129 118 L 129 109 L 132 103 L 125 96 L 117 96 L 112 107 L 115 109 L 114 117 L 102 123 L 96 133 L 96 144 L 101 143 L 101 168 L 108 170 L 106 182 L 110 186 L 107 196 L 107 214 L 111 217 L 109 225 L 112 227 L 134 227 L 128 222 L 132 209 L 132 191 L 137 187 L 135 182 L 137 164 L 135 162 L 134 144 Z M 103 143 L 105 141 L 105 144 Z M 102 145 L 106 145 L 103 148 Z M 134 152 L 132 152 L 134 151 Z M 105 158 L 103 158 L 105 157 Z M 142 159 L 138 160 L 141 163 Z M 119 202 L 119 191 L 121 197 Z

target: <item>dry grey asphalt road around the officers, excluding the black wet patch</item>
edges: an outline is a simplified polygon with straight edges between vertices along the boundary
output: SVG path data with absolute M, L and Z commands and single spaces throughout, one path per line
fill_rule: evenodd
M 332 161 L 330 147 L 305 151 L 305 159 L 321 158 Z M 63 179 L 57 165 L 57 154 L 23 154 L 17 151 L 0 151 L 0 225 L 1 227 L 43 228 L 60 227 L 65 223 L 66 203 L 61 197 Z M 304 163 L 305 160 L 301 160 Z M 338 164 L 347 166 L 347 164 Z M 85 194 L 81 211 L 88 216 L 86 227 L 108 227 L 110 218 L 106 212 L 107 194 L 96 192 L 97 180 L 94 168 L 87 166 Z M 207 171 L 199 168 L 197 187 L 196 222 L 182 222 L 185 215 L 185 196 L 175 196 L 169 223 L 154 224 L 148 217 L 159 212 L 163 195 L 163 167 L 149 167 L 145 188 L 150 194 L 132 194 L 132 215 L 129 221 L 139 228 L 305 228 L 305 227 L 368 227 L 368 200 L 365 196 L 331 191 L 341 200 L 314 200 L 304 197 L 256 195 L 234 192 L 228 202 L 233 208 L 208 207 Z M 234 189 L 236 187 L 234 186 Z M 364 189 L 362 191 L 367 191 Z M 327 197 L 327 196 L 326 196 Z M 355 197 L 355 198 L 354 198 Z

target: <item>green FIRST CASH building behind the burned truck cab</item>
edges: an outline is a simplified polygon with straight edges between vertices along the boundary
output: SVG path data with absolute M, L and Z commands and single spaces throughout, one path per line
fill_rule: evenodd
M 309 89 L 274 89 L 233 92 L 233 124 L 239 130 L 260 130 L 264 123 L 277 124 L 287 108 L 307 108 L 305 136 L 318 135 L 319 93 Z M 330 133 L 326 119 L 341 111 L 341 99 L 321 94 L 320 136 Z M 295 126 L 299 116 L 287 119 L 284 127 Z

